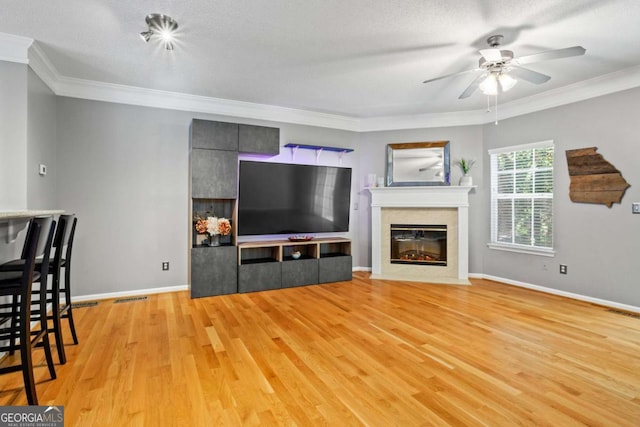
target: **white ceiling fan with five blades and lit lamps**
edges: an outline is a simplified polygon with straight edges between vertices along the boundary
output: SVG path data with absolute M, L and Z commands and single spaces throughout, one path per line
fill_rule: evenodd
M 551 79 L 551 77 L 546 74 L 524 68 L 522 65 L 584 55 L 586 52 L 582 46 L 573 46 L 514 58 L 512 51 L 500 49 L 502 38 L 502 35 L 497 34 L 487 39 L 490 48 L 479 51 L 482 57 L 478 61 L 478 68 L 436 77 L 425 80 L 423 83 L 430 83 L 461 74 L 482 72 L 471 82 L 465 91 L 462 92 L 458 99 L 468 98 L 478 88 L 480 88 L 485 95 L 497 95 L 498 93 L 511 89 L 517 83 L 517 79 L 526 80 L 537 85 Z

